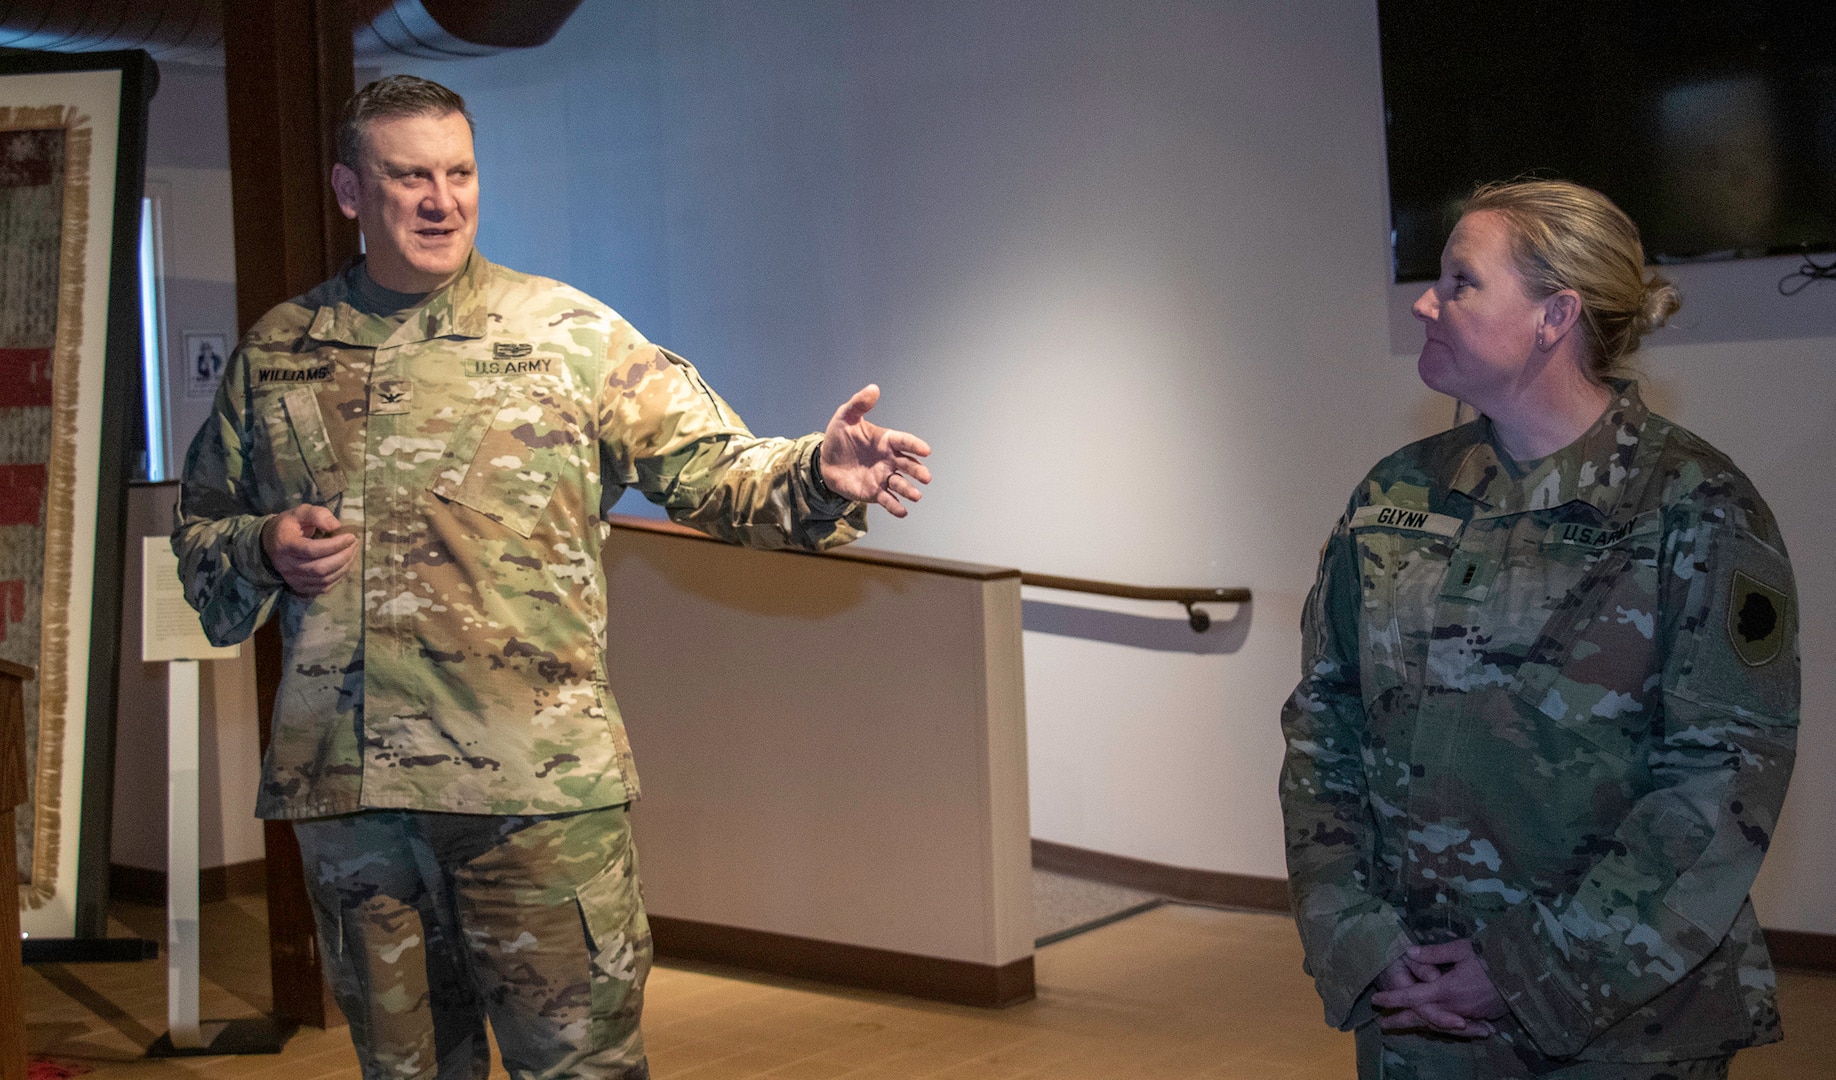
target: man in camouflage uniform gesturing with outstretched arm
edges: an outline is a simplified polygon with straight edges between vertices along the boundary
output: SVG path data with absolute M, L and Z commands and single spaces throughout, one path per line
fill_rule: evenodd
M 646 1076 L 604 512 L 637 487 L 823 549 L 903 516 L 929 448 L 863 419 L 874 388 L 753 437 L 606 305 L 487 263 L 442 86 L 360 90 L 334 187 L 369 255 L 248 332 L 173 534 L 211 641 L 281 621 L 257 814 L 296 821 L 367 1078 L 485 1076 L 487 1014 L 514 1076 Z

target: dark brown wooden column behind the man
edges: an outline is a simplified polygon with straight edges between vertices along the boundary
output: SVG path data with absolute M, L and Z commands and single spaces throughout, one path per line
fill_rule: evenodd
M 351 97 L 349 0 L 224 4 L 224 83 L 230 94 L 230 195 L 235 290 L 242 332 L 270 307 L 299 296 L 358 253 L 356 226 L 330 189 L 338 114 Z M 261 746 L 268 748 L 281 637 L 255 634 Z M 312 1027 L 341 1023 L 330 1003 L 299 843 L 286 823 L 266 825 L 268 950 L 274 1014 Z

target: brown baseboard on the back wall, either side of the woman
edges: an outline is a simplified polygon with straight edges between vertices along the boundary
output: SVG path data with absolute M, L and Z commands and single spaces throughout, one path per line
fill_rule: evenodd
M 1052 843 L 1050 839 L 1034 839 L 1034 867 L 1074 878 L 1125 885 L 1170 900 L 1193 900 L 1197 904 L 1245 907 L 1250 911 L 1289 911 L 1287 880 L 1283 878 L 1190 871 Z M 1768 929 L 1766 950 L 1772 953 L 1772 962 L 1781 968 L 1836 972 L 1836 933 Z

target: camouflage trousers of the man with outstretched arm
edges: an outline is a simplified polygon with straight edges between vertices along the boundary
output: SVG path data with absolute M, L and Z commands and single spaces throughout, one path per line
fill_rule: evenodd
M 296 821 L 364 1080 L 646 1080 L 650 924 L 624 806 Z

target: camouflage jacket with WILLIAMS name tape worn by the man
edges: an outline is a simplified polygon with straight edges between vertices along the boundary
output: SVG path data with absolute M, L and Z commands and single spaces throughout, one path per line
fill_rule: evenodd
M 257 814 L 633 799 L 604 512 L 637 487 L 723 540 L 821 549 L 863 507 L 815 487 L 821 435 L 753 437 L 694 367 L 565 285 L 474 252 L 400 327 L 349 292 L 340 276 L 255 323 L 185 457 L 173 549 L 204 632 L 241 641 L 279 610 Z M 299 503 L 360 540 L 314 599 L 261 549 Z

